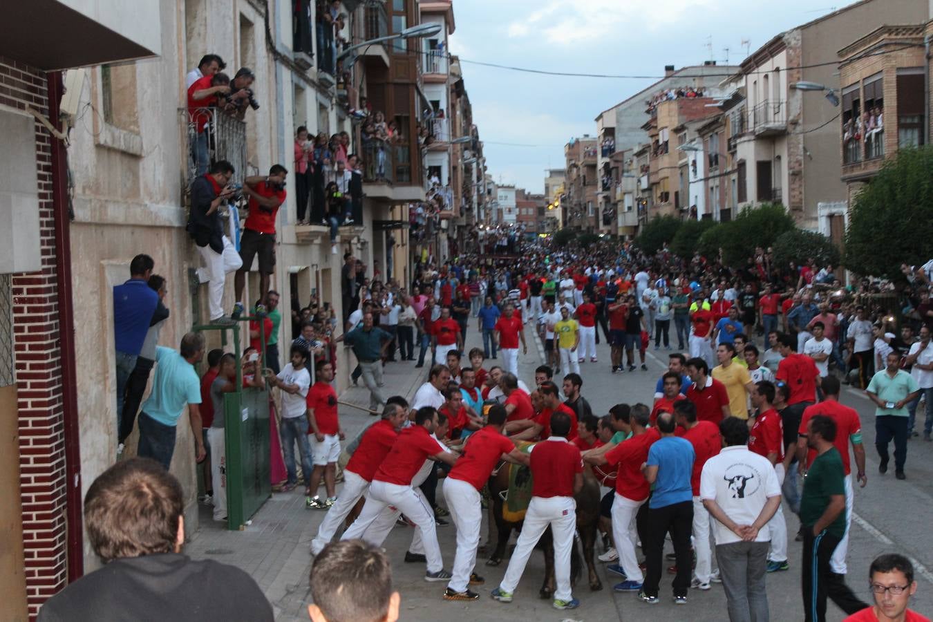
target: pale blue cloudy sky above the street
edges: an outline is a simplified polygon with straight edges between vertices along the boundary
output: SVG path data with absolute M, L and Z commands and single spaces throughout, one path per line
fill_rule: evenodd
M 450 51 L 460 57 L 473 122 L 497 183 L 544 191 L 564 145 L 596 135 L 595 118 L 664 73 L 738 64 L 774 35 L 851 0 L 454 0 Z M 726 50 L 728 49 L 728 52 Z M 470 62 L 473 61 L 473 62 Z M 544 76 L 486 67 L 653 76 Z

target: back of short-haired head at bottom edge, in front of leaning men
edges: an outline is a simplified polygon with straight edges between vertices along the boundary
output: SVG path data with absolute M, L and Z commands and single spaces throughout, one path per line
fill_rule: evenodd
M 362 540 L 332 543 L 314 559 L 311 596 L 327 622 L 384 620 L 392 599 L 392 567 L 379 548 Z

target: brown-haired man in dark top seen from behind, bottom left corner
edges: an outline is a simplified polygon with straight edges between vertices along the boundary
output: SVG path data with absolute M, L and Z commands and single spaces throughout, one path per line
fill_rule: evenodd
M 104 567 L 46 601 L 39 622 L 151 619 L 153 612 L 166 620 L 272 622 L 272 605 L 249 574 L 181 554 L 184 510 L 181 485 L 154 460 L 131 458 L 104 471 L 84 498 L 88 539 Z

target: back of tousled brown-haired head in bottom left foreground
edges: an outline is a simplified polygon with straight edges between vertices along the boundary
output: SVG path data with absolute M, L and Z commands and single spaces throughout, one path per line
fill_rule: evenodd
M 183 511 L 178 480 L 148 458 L 114 464 L 84 497 L 88 538 L 104 561 L 173 552 Z

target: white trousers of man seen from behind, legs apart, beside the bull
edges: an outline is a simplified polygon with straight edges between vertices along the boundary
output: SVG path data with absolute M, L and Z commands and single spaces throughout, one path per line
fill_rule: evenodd
M 577 503 L 573 497 L 531 498 L 512 559 L 508 560 L 506 575 L 499 584 L 500 590 L 509 594 L 515 591 L 525 564 L 548 525 L 554 536 L 554 579 L 557 582 L 554 599 L 569 601 L 573 598 L 570 591 L 570 549 L 574 546 L 574 531 L 577 529 Z

